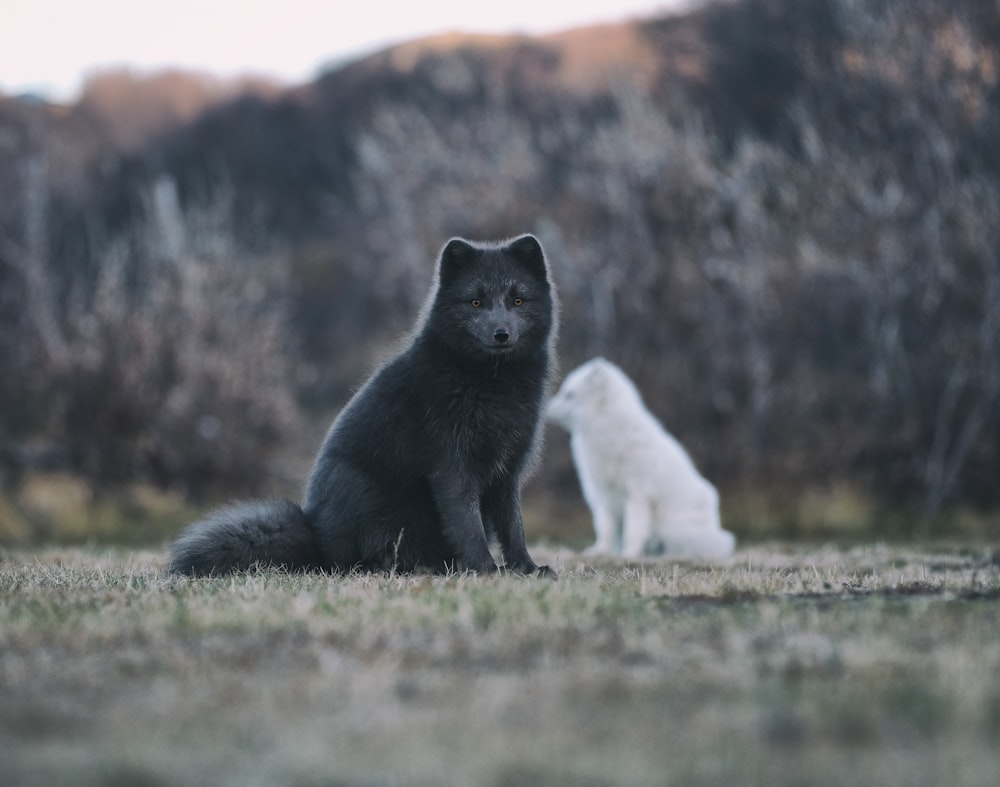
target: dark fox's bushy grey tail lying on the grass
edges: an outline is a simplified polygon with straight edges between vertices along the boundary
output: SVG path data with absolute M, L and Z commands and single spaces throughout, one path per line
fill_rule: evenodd
M 288 500 L 255 500 L 193 522 L 170 548 L 174 574 L 210 576 L 281 566 L 317 567 L 318 549 L 302 509 Z

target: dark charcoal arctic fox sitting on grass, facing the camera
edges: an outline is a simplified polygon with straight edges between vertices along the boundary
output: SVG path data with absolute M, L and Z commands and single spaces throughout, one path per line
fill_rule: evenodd
M 301 508 L 239 503 L 188 526 L 170 570 L 519 573 L 521 482 L 535 461 L 556 336 L 538 241 L 449 241 L 419 325 L 330 427 Z

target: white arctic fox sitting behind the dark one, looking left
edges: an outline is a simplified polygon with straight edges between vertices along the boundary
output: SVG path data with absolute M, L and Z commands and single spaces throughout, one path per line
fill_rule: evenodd
M 719 523 L 715 487 L 613 363 L 594 358 L 575 369 L 547 415 L 572 435 L 597 533 L 590 552 L 721 557 L 733 551 L 736 539 Z

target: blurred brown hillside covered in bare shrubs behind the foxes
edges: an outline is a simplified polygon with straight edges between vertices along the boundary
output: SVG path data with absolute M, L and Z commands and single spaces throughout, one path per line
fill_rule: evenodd
M 3 483 L 294 493 L 260 457 L 412 326 L 442 242 L 533 231 L 563 369 L 619 363 L 737 529 L 994 511 L 998 40 L 996 3 L 742 0 L 0 99 Z M 577 494 L 562 435 L 538 485 Z

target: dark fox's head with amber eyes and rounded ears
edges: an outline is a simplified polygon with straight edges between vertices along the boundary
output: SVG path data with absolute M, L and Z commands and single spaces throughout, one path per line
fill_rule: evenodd
M 544 348 L 552 322 L 545 258 L 533 237 L 445 246 L 428 321 L 438 338 L 475 355 L 517 357 Z

